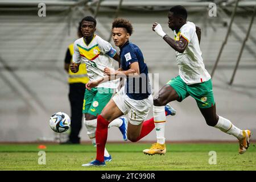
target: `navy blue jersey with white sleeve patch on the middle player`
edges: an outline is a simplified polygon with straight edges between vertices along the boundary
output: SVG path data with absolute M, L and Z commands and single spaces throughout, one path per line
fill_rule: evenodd
M 137 78 L 127 76 L 125 92 L 128 97 L 134 100 L 143 100 L 151 94 L 151 86 L 148 79 L 147 64 L 144 62 L 141 49 L 133 43 L 127 41 L 120 50 L 121 68 L 130 69 L 134 62 L 139 63 L 140 75 Z

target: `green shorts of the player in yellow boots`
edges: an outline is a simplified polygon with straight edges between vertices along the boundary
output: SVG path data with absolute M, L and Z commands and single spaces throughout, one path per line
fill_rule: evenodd
M 179 102 L 191 96 L 195 98 L 197 106 L 201 109 L 212 107 L 215 104 L 211 79 L 199 84 L 187 85 L 180 76 L 177 76 L 168 81 L 167 84 L 177 92 Z

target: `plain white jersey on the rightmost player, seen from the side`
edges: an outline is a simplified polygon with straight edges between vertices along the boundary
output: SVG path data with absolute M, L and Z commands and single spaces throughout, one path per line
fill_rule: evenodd
M 196 25 L 192 22 L 184 24 L 180 31 L 174 31 L 174 39 L 180 40 L 181 36 L 188 41 L 188 46 L 183 53 L 176 51 L 179 75 L 187 84 L 197 84 L 210 79 L 210 75 L 205 69 L 199 40 L 196 35 Z

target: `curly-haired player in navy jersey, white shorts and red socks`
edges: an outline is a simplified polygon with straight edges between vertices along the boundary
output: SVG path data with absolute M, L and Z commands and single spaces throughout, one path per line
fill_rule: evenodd
M 91 80 L 86 84 L 87 89 L 109 80 L 125 76 L 125 86 L 109 101 L 101 114 L 98 115 L 96 129 L 97 157 L 96 160 L 82 166 L 105 166 L 104 148 L 108 137 L 108 125 L 115 118 L 123 114 L 129 117 L 127 138 L 131 142 L 137 142 L 150 133 L 155 125 L 154 119 L 144 121 L 153 104 L 151 86 L 148 79 L 148 69 L 138 46 L 129 42 L 133 27 L 128 20 L 115 19 L 112 24 L 112 37 L 115 46 L 120 48 L 121 68 L 115 71 L 105 68 L 108 76 L 98 80 Z M 135 86 L 137 85 L 137 86 Z M 170 107 L 166 107 L 166 114 L 175 114 Z

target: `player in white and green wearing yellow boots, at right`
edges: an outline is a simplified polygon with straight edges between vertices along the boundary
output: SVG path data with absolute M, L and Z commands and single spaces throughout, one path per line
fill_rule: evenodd
M 249 147 L 251 131 L 238 129 L 228 119 L 216 114 L 212 80 L 204 67 L 195 24 L 187 22 L 187 10 L 183 6 L 172 7 L 168 13 L 168 19 L 168 25 L 175 34 L 174 39 L 170 38 L 158 23 L 153 24 L 152 30 L 175 49 L 179 76 L 164 85 L 159 90 L 159 95 L 154 98 L 154 120 L 156 123 L 159 122 L 156 126 L 158 141 L 151 148 L 144 150 L 144 154 L 154 155 L 166 152 L 164 106 L 175 100 L 181 102 L 188 96 L 195 98 L 207 125 L 216 127 L 239 140 L 238 151 L 243 154 Z

